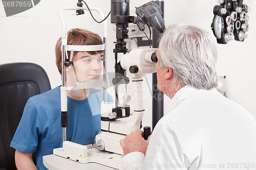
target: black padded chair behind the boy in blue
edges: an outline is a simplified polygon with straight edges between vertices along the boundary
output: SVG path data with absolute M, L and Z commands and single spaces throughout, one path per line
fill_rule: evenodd
M 0 170 L 17 169 L 10 142 L 28 99 L 51 89 L 46 71 L 34 63 L 0 65 Z

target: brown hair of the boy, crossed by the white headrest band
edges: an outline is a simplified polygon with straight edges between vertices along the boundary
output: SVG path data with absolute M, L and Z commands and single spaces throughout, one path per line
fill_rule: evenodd
M 96 33 L 83 29 L 72 29 L 68 32 L 68 45 L 99 45 L 103 44 L 102 39 Z M 74 52 L 76 55 L 78 52 Z M 103 51 L 88 52 L 89 54 L 103 53 Z M 61 37 L 58 39 L 55 46 L 56 66 L 61 74 Z M 68 52 L 70 58 L 70 52 Z

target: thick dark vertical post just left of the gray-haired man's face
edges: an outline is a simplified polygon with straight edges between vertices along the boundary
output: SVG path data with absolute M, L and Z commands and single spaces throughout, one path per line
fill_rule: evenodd
M 164 2 L 163 0 L 154 1 L 162 10 L 163 14 L 162 17 L 164 18 Z M 158 48 L 158 39 L 159 34 L 156 30 L 153 29 L 152 33 L 152 46 L 153 48 Z M 158 120 L 163 116 L 163 93 L 158 90 L 157 88 L 157 74 L 154 73 L 152 75 L 152 91 L 153 91 L 153 99 L 152 99 L 152 130 L 155 128 L 156 124 L 158 123 Z

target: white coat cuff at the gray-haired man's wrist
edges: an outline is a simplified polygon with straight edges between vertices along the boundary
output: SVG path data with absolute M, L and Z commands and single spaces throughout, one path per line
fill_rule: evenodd
M 132 152 L 123 157 L 123 166 L 125 170 L 139 170 L 142 168 L 145 155 L 141 152 Z

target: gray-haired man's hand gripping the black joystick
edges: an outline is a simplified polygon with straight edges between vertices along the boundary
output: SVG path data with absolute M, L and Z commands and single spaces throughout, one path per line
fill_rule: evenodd
M 141 152 L 145 155 L 150 137 L 151 136 L 148 136 L 147 140 L 144 140 L 141 130 L 126 135 L 124 139 L 120 140 L 124 155 L 131 152 Z

